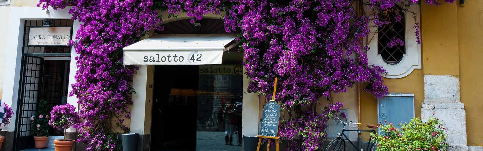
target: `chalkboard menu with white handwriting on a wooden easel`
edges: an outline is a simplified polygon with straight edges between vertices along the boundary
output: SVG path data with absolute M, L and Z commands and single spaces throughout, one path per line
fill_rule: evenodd
M 280 105 L 270 101 L 263 107 L 262 125 L 259 136 L 278 137 L 278 124 L 280 119 Z

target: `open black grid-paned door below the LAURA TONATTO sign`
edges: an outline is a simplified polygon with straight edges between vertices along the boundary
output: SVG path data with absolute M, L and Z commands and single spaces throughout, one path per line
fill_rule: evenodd
M 33 125 L 30 117 L 35 114 L 39 100 L 42 81 L 43 58 L 24 56 L 21 72 L 21 84 L 18 97 L 18 106 L 15 127 L 15 150 L 34 147 Z

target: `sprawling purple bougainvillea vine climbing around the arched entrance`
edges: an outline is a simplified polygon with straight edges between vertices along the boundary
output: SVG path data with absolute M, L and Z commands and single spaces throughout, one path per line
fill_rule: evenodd
M 331 92 L 344 92 L 361 82 L 367 83 L 365 90 L 376 97 L 387 94 L 380 75 L 385 71 L 368 64 L 369 47 L 363 39 L 369 36 L 370 28 L 391 25 L 380 15 L 397 10 L 394 20 L 398 22 L 403 13 L 414 15 L 408 8 L 417 3 L 420 1 L 40 0 L 38 6 L 72 6 L 69 13 L 81 22 L 76 41 L 71 42 L 79 54 L 71 95 L 79 98 L 80 117 L 85 122 L 78 125 L 78 141 L 87 143 L 87 151 L 119 149 L 111 119 L 128 131 L 120 116 L 129 118 L 130 94 L 134 91 L 130 82 L 136 67 L 122 65 L 122 48 L 148 30 L 162 30 L 157 26 L 162 20 L 156 9 L 171 15 L 186 12 L 193 17 L 192 22 L 208 13 L 225 13 L 225 30 L 240 33 L 245 75 L 253 79 L 248 92 L 270 94 L 278 77 L 276 100 L 287 115 L 280 135 L 290 143 L 287 150 L 315 151 L 326 138 L 326 121 L 342 107 L 328 99 Z M 369 8 L 371 13 L 358 13 L 359 6 Z M 414 27 L 420 43 L 419 23 Z M 388 45 L 404 44 L 393 38 Z M 327 97 L 329 105 L 318 110 L 315 106 L 320 106 L 320 97 Z

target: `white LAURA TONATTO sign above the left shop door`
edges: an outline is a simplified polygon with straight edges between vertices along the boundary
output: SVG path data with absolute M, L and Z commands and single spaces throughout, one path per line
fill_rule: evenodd
M 71 27 L 31 27 L 28 46 L 65 46 L 71 40 Z

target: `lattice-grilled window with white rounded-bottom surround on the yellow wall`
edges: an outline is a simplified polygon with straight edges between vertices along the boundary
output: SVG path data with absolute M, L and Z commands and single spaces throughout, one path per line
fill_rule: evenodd
M 374 22 L 370 22 L 369 35 L 364 39 L 369 46 L 368 64 L 383 67 L 387 73 L 381 74 L 387 78 L 401 78 L 408 76 L 412 70 L 421 69 L 421 45 L 417 43 L 418 39 L 414 26 L 420 22 L 419 5 L 412 5 L 410 12 L 400 13 L 400 11 L 377 12 L 380 21 L 391 21 L 379 28 Z M 371 9 L 365 7 L 368 14 L 373 14 Z M 398 14 L 397 14 L 398 12 Z M 399 22 L 395 22 L 400 19 Z M 373 37 L 373 38 L 372 38 Z M 388 43 L 392 38 L 398 38 L 399 43 L 393 44 L 389 48 Z M 404 43 L 404 45 L 398 45 Z

